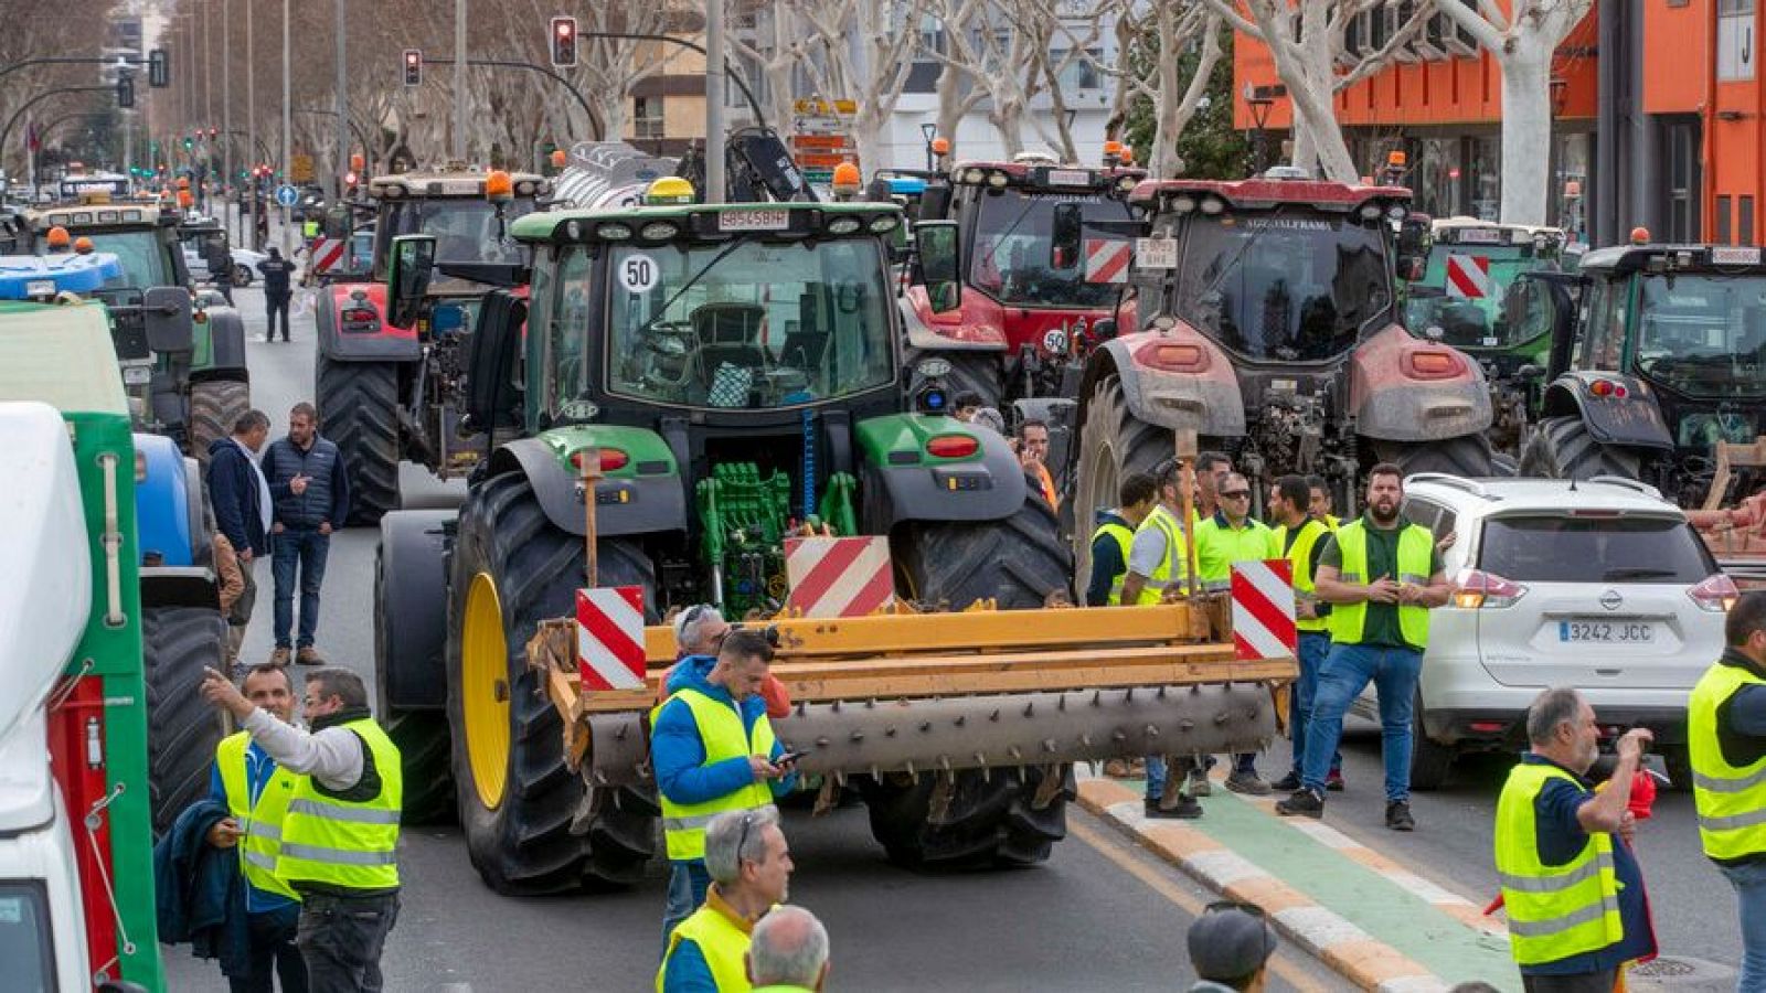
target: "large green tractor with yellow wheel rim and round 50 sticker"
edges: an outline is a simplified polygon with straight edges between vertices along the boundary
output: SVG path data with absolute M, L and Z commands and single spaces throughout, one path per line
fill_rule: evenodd
M 489 293 L 470 337 L 464 429 L 484 447 L 470 495 L 457 516 L 381 518 L 376 565 L 380 712 L 404 749 L 406 818 L 457 811 L 496 891 L 634 882 L 655 845 L 653 792 L 567 769 L 526 663 L 539 622 L 572 615 L 585 585 L 588 500 L 595 585 L 641 587 L 648 624 L 692 603 L 779 615 L 784 537 L 804 530 L 887 535 L 885 581 L 927 610 L 1068 592 L 1070 553 L 1007 440 L 941 413 L 938 366 L 908 396 L 888 253 L 901 224 L 894 203 L 691 201 L 510 224 L 532 270 L 505 283 L 532 292 Z M 918 231 L 945 307 L 961 293 L 952 235 Z M 434 239 L 397 240 L 392 323 L 417 316 L 433 262 Z M 1067 777 L 964 774 L 938 830 L 922 830 L 917 785 L 871 777 L 865 799 L 892 855 L 1040 860 L 1065 832 Z

